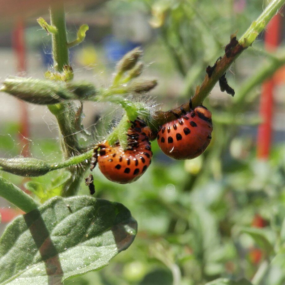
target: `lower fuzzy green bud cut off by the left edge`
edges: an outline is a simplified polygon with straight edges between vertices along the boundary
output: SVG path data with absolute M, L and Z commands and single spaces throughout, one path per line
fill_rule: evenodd
M 20 176 L 41 176 L 50 171 L 43 160 L 31 157 L 0 158 L 0 169 Z

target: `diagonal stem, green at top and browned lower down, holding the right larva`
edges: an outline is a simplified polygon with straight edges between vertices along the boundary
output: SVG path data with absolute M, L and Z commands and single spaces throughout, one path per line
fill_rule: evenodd
M 204 81 L 196 89 L 195 95 L 191 98 L 193 107 L 201 105 L 205 98 L 210 94 L 215 84 L 219 81 L 219 78 L 225 74 L 228 68 L 236 60 L 236 58 L 242 53 L 246 48 L 248 48 L 253 41 L 256 39 L 258 34 L 269 23 L 270 19 L 279 11 L 279 9 L 284 5 L 285 0 L 273 0 L 262 12 L 262 14 L 254 21 L 244 35 L 240 38 L 238 44 L 231 48 L 230 54 L 224 54 L 224 56 L 218 60 L 215 64 L 215 69 L 211 74 L 211 77 L 206 74 Z M 182 104 L 178 108 L 173 109 L 174 113 L 181 113 L 181 109 L 184 108 L 186 111 L 189 111 L 189 103 Z M 155 113 L 155 127 L 163 125 L 166 122 L 172 121 L 175 119 L 175 116 L 169 111 L 157 111 Z

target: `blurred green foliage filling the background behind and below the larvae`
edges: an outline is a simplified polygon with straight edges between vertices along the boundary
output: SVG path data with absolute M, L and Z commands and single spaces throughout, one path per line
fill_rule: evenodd
M 149 17 L 158 37 L 146 47 L 146 57 L 155 61 L 153 51 L 167 50 L 165 61 L 158 63 L 164 67 L 162 75 L 169 76 L 175 68 L 183 78 L 181 96 L 168 102 L 173 105 L 193 94 L 206 66 L 223 54 L 229 36 L 244 32 L 262 11 L 262 4 L 261 0 L 137 0 L 111 1 L 108 7 L 114 14 L 137 10 Z M 254 46 L 255 51 L 245 51 L 240 62 L 261 61 L 261 43 Z M 241 67 L 232 67 L 234 80 L 228 76 L 233 87 L 245 79 Z M 66 285 L 202 285 L 221 277 L 252 279 L 260 285 L 285 283 L 285 147 L 274 145 L 268 161 L 256 160 L 254 139 L 242 132 L 245 125 L 256 125 L 246 113 L 255 110 L 258 92 L 254 91 L 247 104 L 230 96 L 206 100 L 213 111 L 213 139 L 195 160 L 171 160 L 153 142 L 153 163 L 135 183 L 118 185 L 98 169 L 93 171 L 95 196 L 130 209 L 138 221 L 138 234 L 130 249 L 103 270 L 67 280 Z M 104 130 L 100 121 L 96 127 Z M 1 149 L 14 147 L 11 137 L 1 138 Z M 44 141 L 37 149 L 39 155 L 55 153 Z M 46 193 L 46 186 L 39 186 L 47 185 L 45 180 L 50 177 L 33 180 L 33 185 L 29 182 L 29 188 L 37 185 Z M 81 194 L 87 193 L 82 184 Z M 252 226 L 257 214 L 266 222 L 262 228 Z M 254 255 L 258 253 L 254 250 L 260 255 Z M 247 284 L 219 282 L 211 284 Z

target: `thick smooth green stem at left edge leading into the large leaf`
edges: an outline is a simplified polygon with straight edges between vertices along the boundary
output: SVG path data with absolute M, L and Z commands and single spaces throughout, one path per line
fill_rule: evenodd
M 0 177 L 0 196 L 17 206 L 25 213 L 39 207 L 39 204 L 37 204 L 32 197 L 2 177 Z

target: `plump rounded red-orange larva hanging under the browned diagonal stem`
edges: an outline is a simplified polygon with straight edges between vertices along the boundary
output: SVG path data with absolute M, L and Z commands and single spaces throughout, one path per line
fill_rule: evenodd
M 160 127 L 157 142 L 174 159 L 192 159 L 202 154 L 211 141 L 212 114 L 203 106 L 184 112 L 179 118 Z

